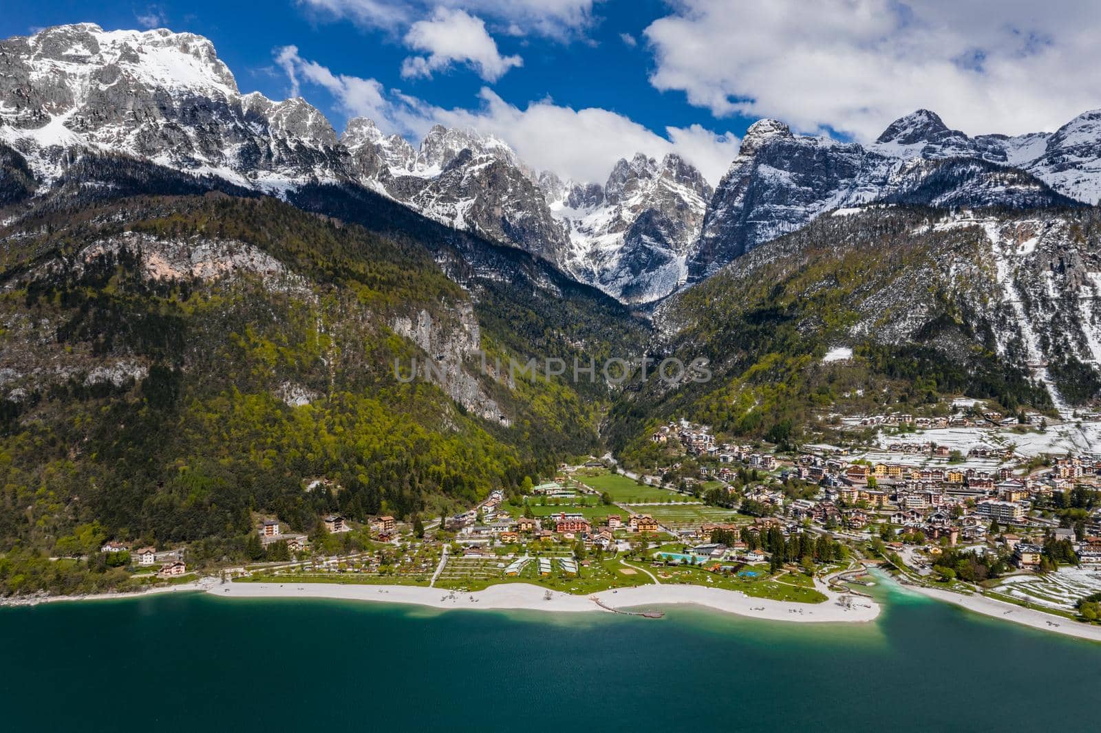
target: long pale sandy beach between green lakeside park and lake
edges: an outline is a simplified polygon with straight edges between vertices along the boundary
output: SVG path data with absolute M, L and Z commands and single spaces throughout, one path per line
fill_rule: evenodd
M 880 614 L 871 599 L 854 598 L 852 608 L 839 602 L 839 594 L 820 587 L 828 597 L 824 603 L 792 603 L 750 598 L 738 591 L 702 586 L 637 586 L 601 591 L 593 597 L 615 609 L 648 610 L 677 604 L 693 604 L 770 621 L 864 622 Z M 224 583 L 208 589 L 222 598 L 328 598 L 348 601 L 407 603 L 434 609 L 493 609 L 552 611 L 568 613 L 610 613 L 588 595 L 571 595 L 528 583 L 501 583 L 473 593 L 453 593 L 442 588 L 414 586 L 369 586 L 338 583 Z

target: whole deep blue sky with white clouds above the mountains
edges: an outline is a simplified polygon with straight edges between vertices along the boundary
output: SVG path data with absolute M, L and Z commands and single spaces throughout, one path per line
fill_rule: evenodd
M 577 179 L 677 152 L 713 184 L 761 117 L 868 141 L 917 108 L 1016 134 L 1101 107 L 1094 0 L 7 4 L 3 36 L 80 21 L 190 31 L 242 91 L 301 94 L 338 130 L 356 114 L 414 141 L 469 124 Z

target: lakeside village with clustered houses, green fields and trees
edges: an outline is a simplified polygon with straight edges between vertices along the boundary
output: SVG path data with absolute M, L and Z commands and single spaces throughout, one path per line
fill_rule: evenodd
M 1080 617 L 1082 599 L 1101 592 L 1101 453 L 1023 453 L 980 431 L 1002 425 L 996 414 L 978 426 L 916 422 L 863 418 L 854 427 L 877 426 L 866 445 L 778 451 L 675 420 L 650 436 L 668 464 L 648 471 L 590 457 L 457 514 L 329 515 L 310 535 L 258 516 L 257 561 L 218 573 L 447 593 L 509 582 L 548 593 L 678 583 L 817 603 L 826 588 L 841 589 L 842 573 L 879 565 L 903 582 Z M 945 428 L 970 430 L 970 442 L 929 437 Z M 129 553 L 137 572 L 160 581 L 196 578 L 185 548 L 112 541 L 102 551 Z

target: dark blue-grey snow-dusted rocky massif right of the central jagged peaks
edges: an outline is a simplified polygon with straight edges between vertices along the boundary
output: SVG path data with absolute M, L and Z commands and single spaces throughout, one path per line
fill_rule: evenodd
M 1097 117 L 1078 120 L 1090 116 Z M 870 201 L 1015 209 L 1093 203 L 1090 186 L 1101 184 L 1101 174 L 1091 173 L 1091 166 L 1101 166 L 1097 124 L 1071 122 L 1064 130 L 1073 131 L 1061 136 L 969 138 L 934 112 L 918 110 L 865 147 L 794 135 L 783 122 L 761 120 L 746 131 L 716 188 L 688 259 L 689 276 L 707 277 L 826 211 Z M 1075 150 L 1073 156 L 1059 152 L 1065 149 Z M 1046 163 L 1045 156 L 1050 156 Z

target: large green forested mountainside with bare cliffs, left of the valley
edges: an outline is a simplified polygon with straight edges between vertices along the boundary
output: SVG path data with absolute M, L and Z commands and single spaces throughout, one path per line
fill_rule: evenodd
M 399 319 L 428 314 L 445 336 L 470 327 L 471 293 L 413 238 L 220 194 L 46 207 L 0 237 L 0 543 L 19 548 L 9 565 L 78 547 L 97 523 L 101 536 L 204 540 L 200 557 L 232 558 L 253 511 L 299 532 L 335 511 L 437 515 L 599 442 L 599 384 L 510 386 L 468 364 L 505 425 L 436 384 L 394 378 L 394 359 L 432 358 L 395 332 Z M 178 269 L 174 242 L 188 266 L 201 270 L 196 253 L 211 243 L 211 261 L 239 266 L 151 276 Z M 584 324 L 549 322 L 546 310 L 566 306 L 530 289 L 516 299 L 479 286 L 475 297 L 483 348 L 505 357 L 547 346 L 587 359 L 613 348 L 602 333 L 639 328 L 608 306 Z M 306 491 L 315 480 L 325 483 Z

